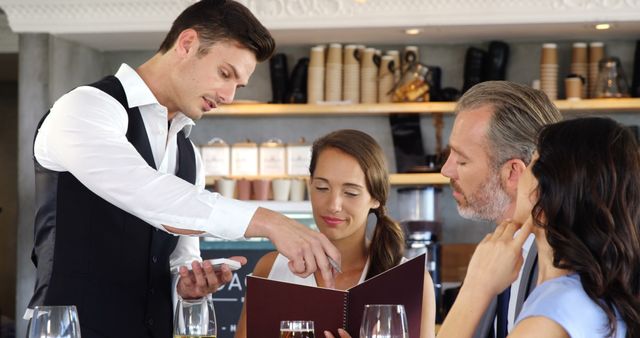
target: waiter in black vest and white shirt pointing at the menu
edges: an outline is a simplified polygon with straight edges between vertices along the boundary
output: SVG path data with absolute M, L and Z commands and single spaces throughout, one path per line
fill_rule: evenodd
M 194 120 L 231 103 L 274 48 L 243 5 L 202 0 L 139 68 L 123 64 L 56 101 L 34 142 L 30 309 L 76 305 L 84 338 L 170 337 L 174 293 L 203 297 L 231 279 L 228 267 L 200 263 L 198 235 L 268 237 L 293 272 L 319 269 L 333 285 L 335 247 L 279 213 L 205 190 L 188 138 Z

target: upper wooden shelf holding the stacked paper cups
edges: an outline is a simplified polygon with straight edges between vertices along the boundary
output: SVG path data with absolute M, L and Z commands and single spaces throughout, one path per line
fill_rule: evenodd
M 564 113 L 619 113 L 640 112 L 639 98 L 624 99 L 588 99 L 558 100 L 556 106 Z M 390 113 L 408 114 L 452 114 L 455 102 L 411 102 L 411 103 L 372 103 L 372 104 L 231 104 L 209 111 L 205 116 L 367 116 L 389 115 Z

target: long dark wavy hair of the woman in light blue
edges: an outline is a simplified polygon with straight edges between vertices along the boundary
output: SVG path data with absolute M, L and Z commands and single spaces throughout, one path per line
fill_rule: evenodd
M 546 126 L 532 168 L 538 226 L 553 248 L 553 265 L 580 275 L 587 295 L 616 311 L 627 337 L 640 337 L 640 155 L 631 132 L 608 118 Z

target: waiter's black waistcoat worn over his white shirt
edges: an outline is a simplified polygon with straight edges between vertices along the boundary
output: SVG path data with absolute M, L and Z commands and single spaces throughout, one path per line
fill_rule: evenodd
M 155 168 L 140 111 L 128 108 L 120 81 L 108 76 L 90 86 L 113 96 L 127 110 L 127 139 Z M 176 175 L 193 184 L 193 147 L 182 131 L 177 139 Z M 32 260 L 38 271 L 30 307 L 76 305 L 83 338 L 171 337 L 169 255 L 178 237 L 105 201 L 71 173 L 47 170 L 34 162 L 37 214 Z

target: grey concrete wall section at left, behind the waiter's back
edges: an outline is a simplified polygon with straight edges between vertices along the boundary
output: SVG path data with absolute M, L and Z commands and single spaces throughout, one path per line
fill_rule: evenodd
M 33 292 L 34 174 L 33 135 L 38 121 L 57 97 L 103 74 L 102 54 L 47 34 L 20 35 L 18 99 L 18 230 L 16 317 L 21 318 Z M 16 322 L 17 337 L 26 321 Z

